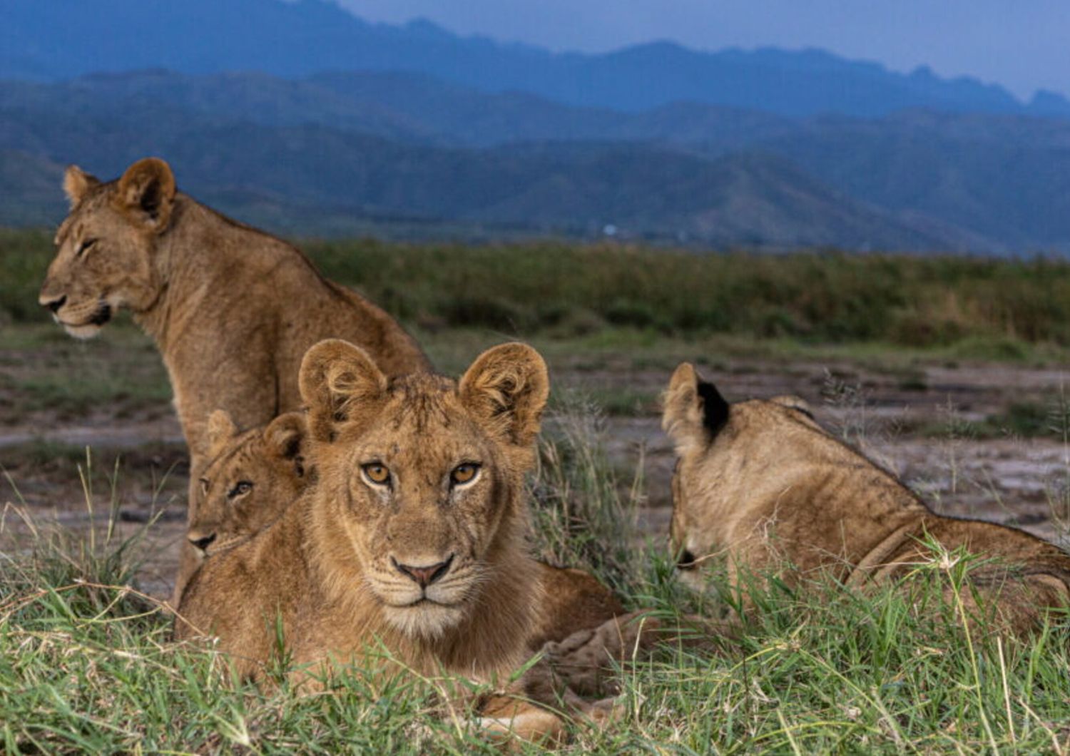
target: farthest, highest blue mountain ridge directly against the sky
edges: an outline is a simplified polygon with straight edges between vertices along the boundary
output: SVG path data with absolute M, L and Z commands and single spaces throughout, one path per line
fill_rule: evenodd
M 785 115 L 872 118 L 903 108 L 1066 115 L 1061 95 L 1024 104 L 975 79 L 903 75 L 820 50 L 701 52 L 658 42 L 551 53 L 461 37 L 428 21 L 373 25 L 324 0 L 0 0 L 0 77 L 56 79 L 166 67 L 186 73 L 407 71 L 489 92 L 643 110 L 675 101 Z

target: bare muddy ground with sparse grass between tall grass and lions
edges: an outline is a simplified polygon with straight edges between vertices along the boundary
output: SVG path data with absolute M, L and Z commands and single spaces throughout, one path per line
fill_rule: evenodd
M 504 337 L 444 331 L 421 340 L 452 372 Z M 938 511 L 1053 539 L 1065 531 L 1070 446 L 1061 426 L 1070 370 L 1059 366 L 820 351 L 785 356 L 646 338 L 536 345 L 548 356 L 557 397 L 586 397 L 603 407 L 607 450 L 623 481 L 641 470 L 640 522 L 656 538 L 667 533 L 672 465 L 657 395 L 683 358 L 700 362 L 730 400 L 801 396 L 823 422 L 903 476 Z M 120 527 L 155 519 L 142 582 L 166 595 L 187 482 L 169 401 L 154 348 L 128 325 L 92 342 L 43 326 L 0 334 L 0 546 L 25 542 L 24 514 L 37 526 L 78 527 L 105 520 L 113 503 Z

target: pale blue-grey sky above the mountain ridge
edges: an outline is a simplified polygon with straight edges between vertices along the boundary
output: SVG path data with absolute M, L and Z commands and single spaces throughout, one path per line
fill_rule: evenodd
M 1027 97 L 1070 94 L 1070 0 L 337 0 L 369 20 L 423 16 L 464 34 L 602 51 L 822 47 L 896 71 L 930 65 Z

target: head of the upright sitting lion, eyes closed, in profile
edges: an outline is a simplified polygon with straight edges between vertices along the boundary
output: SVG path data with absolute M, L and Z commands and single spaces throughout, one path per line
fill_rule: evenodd
M 71 213 L 56 234 L 40 302 L 68 334 L 89 338 L 120 307 L 143 311 L 155 303 L 154 251 L 167 229 L 174 178 L 166 163 L 149 158 L 106 184 L 72 166 L 63 186 Z

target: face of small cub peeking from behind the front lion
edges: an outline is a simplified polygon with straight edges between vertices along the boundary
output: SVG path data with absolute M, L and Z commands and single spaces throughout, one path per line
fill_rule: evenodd
M 209 420 L 210 457 L 193 503 L 186 537 L 201 557 L 255 536 L 305 490 L 304 417 L 280 415 L 263 428 L 238 432 L 217 411 Z

